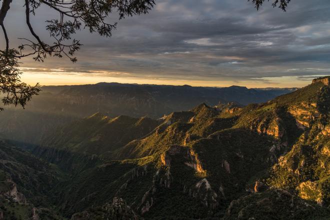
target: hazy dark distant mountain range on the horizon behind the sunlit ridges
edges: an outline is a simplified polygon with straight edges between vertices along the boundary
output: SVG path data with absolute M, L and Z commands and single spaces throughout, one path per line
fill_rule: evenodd
M 95 112 L 110 117 L 159 118 L 172 111 L 188 110 L 202 102 L 210 106 L 219 101 L 259 103 L 293 90 L 295 88 L 263 90 L 241 86 L 217 88 L 105 82 L 43 86 L 42 92 L 33 96 L 26 109 L 5 106 L 5 110 L 0 112 L 0 135 L 39 144 L 45 132 Z

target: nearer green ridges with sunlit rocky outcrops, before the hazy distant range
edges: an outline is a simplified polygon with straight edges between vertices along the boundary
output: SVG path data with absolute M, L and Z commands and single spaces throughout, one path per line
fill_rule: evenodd
M 246 107 L 199 104 L 143 129 L 141 118 L 96 114 L 33 153 L 65 171 L 48 208 L 66 218 L 325 220 L 329 104 L 328 84 L 314 81 Z

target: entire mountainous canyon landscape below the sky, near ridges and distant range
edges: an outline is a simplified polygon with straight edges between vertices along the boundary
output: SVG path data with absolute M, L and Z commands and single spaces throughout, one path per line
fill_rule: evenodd
M 328 81 L 46 87 L 1 112 L 0 219 L 329 219 Z

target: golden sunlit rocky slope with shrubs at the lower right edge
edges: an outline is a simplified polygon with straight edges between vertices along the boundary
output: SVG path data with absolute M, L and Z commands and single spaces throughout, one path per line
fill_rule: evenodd
M 325 117 L 325 115 L 323 115 Z M 329 199 L 329 121 L 314 118 L 292 148 L 279 158 L 268 179 L 271 185 L 297 191 L 297 196 L 327 206 Z

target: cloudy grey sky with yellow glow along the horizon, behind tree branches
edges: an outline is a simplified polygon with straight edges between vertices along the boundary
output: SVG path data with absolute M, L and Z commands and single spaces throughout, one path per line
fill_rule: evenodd
M 330 1 L 292 0 L 283 12 L 270 3 L 257 11 L 247 0 L 155 0 L 148 13 L 118 21 L 109 38 L 75 34 L 78 61 L 23 58 L 22 81 L 42 85 L 105 82 L 194 86 L 301 87 L 330 75 Z M 10 47 L 32 36 L 23 1 L 4 20 Z M 41 6 L 31 18 L 41 39 L 58 13 Z M 118 15 L 110 14 L 109 22 Z M 0 46 L 4 47 L 0 35 Z

